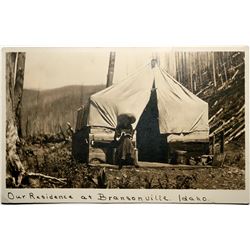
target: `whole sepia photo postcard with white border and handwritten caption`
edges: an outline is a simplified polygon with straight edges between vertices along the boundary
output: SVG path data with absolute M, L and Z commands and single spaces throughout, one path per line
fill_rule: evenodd
M 4 48 L 2 203 L 249 203 L 248 53 Z

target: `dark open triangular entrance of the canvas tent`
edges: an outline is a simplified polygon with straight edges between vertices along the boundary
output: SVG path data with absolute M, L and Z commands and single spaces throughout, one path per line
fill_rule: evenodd
M 166 135 L 160 134 L 159 111 L 155 83 L 150 100 L 145 107 L 136 127 L 136 144 L 139 161 L 167 162 Z

